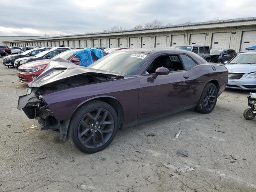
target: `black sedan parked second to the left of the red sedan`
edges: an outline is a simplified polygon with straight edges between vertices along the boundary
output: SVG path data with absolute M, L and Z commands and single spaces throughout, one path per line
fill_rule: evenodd
M 14 61 L 16 59 L 23 58 L 23 57 L 35 56 L 36 54 L 38 54 L 42 51 L 45 51 L 45 49 L 36 48 L 36 49 L 27 50 L 25 52 L 22 52 L 21 54 L 9 55 L 9 56 L 3 58 L 3 64 L 8 67 L 9 66 L 14 67 Z

